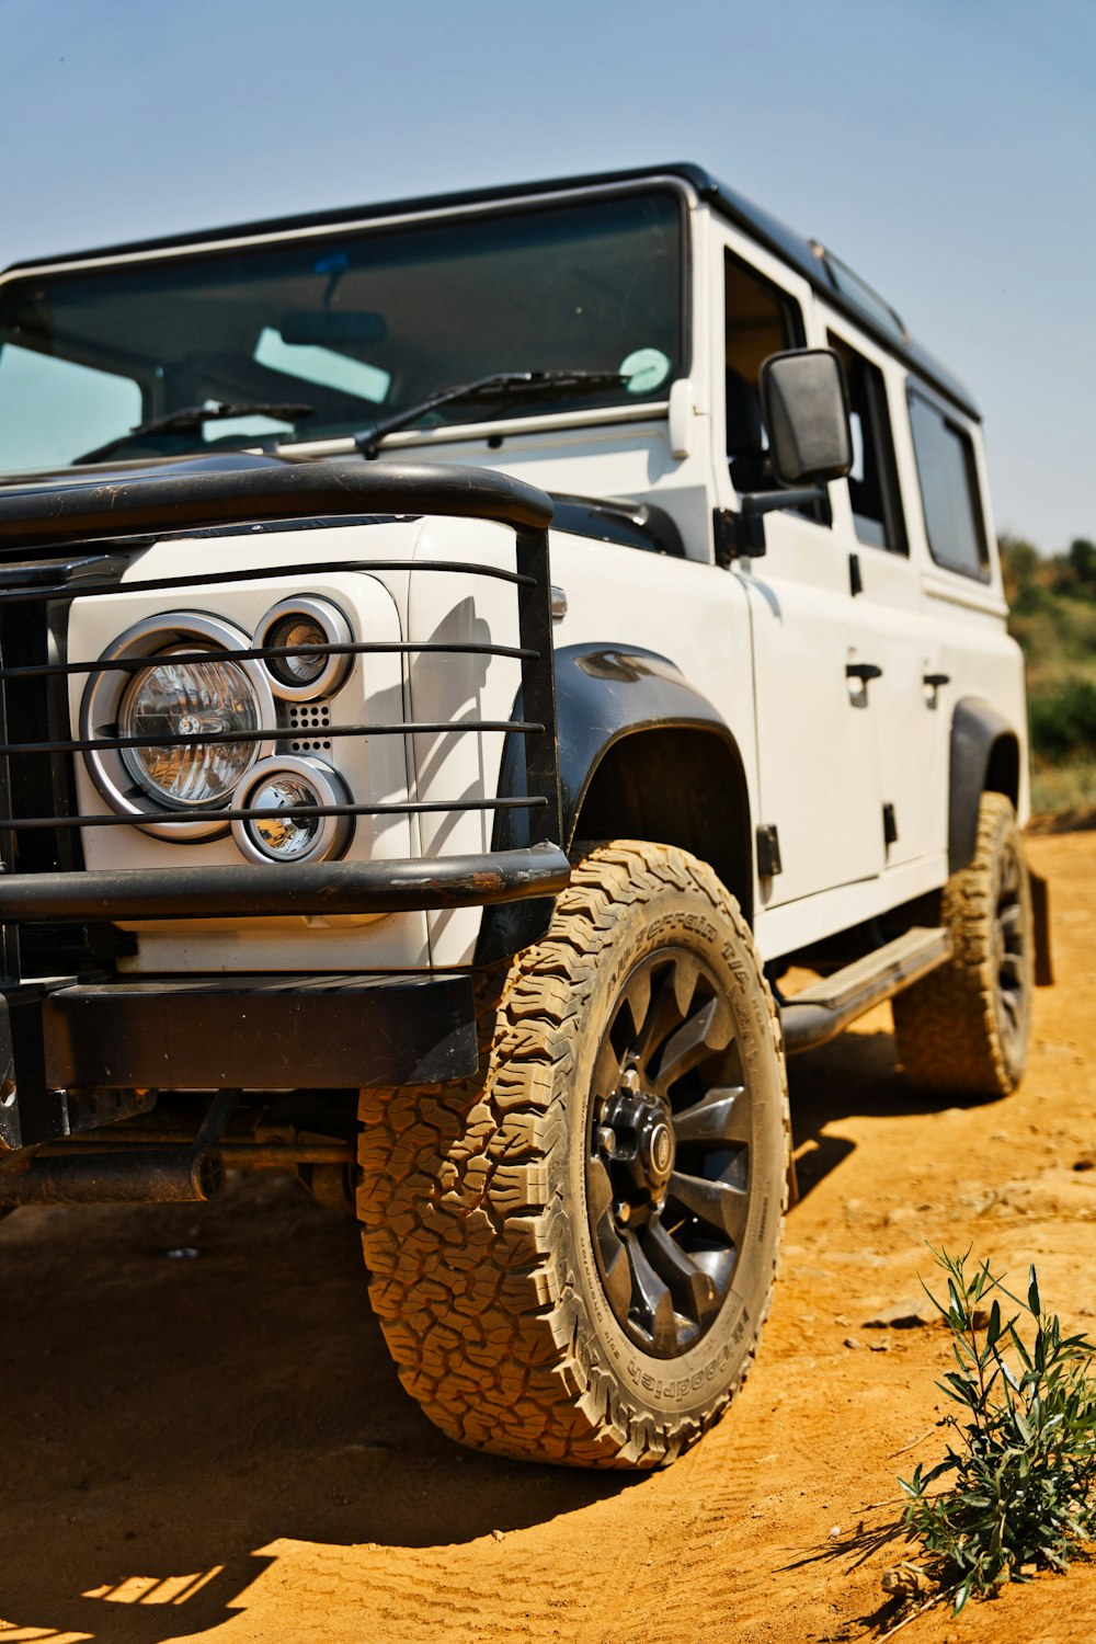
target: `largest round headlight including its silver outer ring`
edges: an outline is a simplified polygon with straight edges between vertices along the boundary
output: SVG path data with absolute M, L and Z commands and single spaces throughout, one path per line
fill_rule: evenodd
M 104 667 L 84 690 L 82 737 L 141 743 L 84 755 L 113 810 L 173 840 L 227 832 L 217 809 L 227 809 L 240 778 L 274 746 L 273 737 L 233 740 L 276 728 L 266 671 L 223 654 L 246 649 L 248 636 L 230 623 L 171 612 L 127 628 L 104 653 L 100 663 L 148 661 L 146 667 Z M 209 817 L 174 822 L 177 810 L 207 810 Z

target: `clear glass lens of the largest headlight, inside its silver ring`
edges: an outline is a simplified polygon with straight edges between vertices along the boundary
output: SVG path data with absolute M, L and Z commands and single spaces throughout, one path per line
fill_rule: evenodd
M 173 663 L 168 654 L 133 676 L 118 710 L 118 733 L 150 743 L 122 750 L 127 771 L 150 797 L 179 810 L 225 804 L 258 760 L 258 743 L 153 738 L 233 730 L 260 730 L 260 702 L 238 663 Z

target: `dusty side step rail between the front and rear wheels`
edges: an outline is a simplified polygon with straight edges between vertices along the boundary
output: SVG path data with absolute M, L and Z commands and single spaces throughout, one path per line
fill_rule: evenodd
M 789 1055 L 813 1051 L 882 1000 L 892 998 L 951 958 L 951 932 L 915 926 L 886 947 L 781 1001 Z

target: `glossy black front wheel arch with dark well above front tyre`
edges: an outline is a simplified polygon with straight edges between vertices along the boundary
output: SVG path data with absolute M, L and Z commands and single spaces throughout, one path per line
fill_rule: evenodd
M 708 861 L 753 922 L 753 832 L 746 768 L 721 713 L 665 656 L 619 644 L 555 653 L 564 837 L 646 838 Z M 519 717 L 518 710 L 516 717 Z M 524 794 L 524 746 L 508 740 L 500 797 Z M 498 812 L 496 848 L 521 843 L 524 814 Z M 547 929 L 552 904 L 485 909 L 477 963 Z

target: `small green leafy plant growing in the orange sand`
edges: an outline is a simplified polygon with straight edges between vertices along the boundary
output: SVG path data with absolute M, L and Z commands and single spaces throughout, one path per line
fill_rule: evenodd
M 1043 1312 L 1035 1268 L 1020 1300 L 988 1261 L 968 1276 L 969 1249 L 933 1256 L 946 1274 L 946 1305 L 928 1295 L 958 1366 L 938 1386 L 961 1414 L 940 1424 L 951 1437 L 945 1460 L 899 1483 L 910 1498 L 907 1534 L 932 1555 L 960 1611 L 971 1595 L 1024 1582 L 1034 1568 L 1065 1570 L 1096 1537 L 1096 1346 L 1063 1337 Z M 1015 1307 L 1007 1318 L 1002 1302 Z M 943 1478 L 946 1488 L 930 1493 Z

